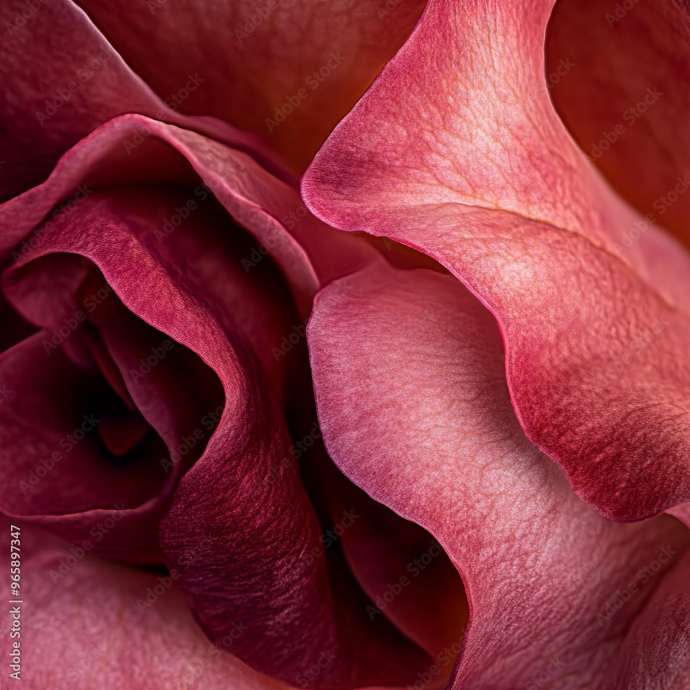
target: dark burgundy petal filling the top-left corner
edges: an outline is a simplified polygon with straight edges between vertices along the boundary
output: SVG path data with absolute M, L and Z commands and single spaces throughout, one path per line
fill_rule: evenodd
M 208 113 L 186 117 L 159 99 L 75 3 L 11 0 L 0 8 L 0 23 L 0 200 L 43 181 L 70 146 L 127 112 L 197 130 L 279 171 L 275 155 L 256 137 Z M 140 131 L 135 143 L 147 135 Z

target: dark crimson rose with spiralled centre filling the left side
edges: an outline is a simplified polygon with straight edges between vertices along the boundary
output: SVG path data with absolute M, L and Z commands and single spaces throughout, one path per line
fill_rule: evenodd
M 21 10 L 7 7 L 10 19 Z M 23 630 L 14 678 L 225 687 L 239 673 L 273 685 L 262 671 L 302 687 L 399 684 L 446 646 L 435 675 L 449 676 L 466 621 L 457 572 L 431 535 L 335 471 L 315 421 L 312 299 L 383 265 L 377 250 L 311 216 L 257 139 L 182 115 L 195 102 L 213 114 L 204 87 L 226 84 L 192 56 L 183 86 L 157 84 L 159 99 L 74 6 L 30 9 L 8 30 L 15 90 L 3 120 L 3 189 L 23 193 L 0 209 L 0 506 L 11 520 L 3 535 L 21 549 L 12 598 L 32 597 L 12 611 Z M 185 21 L 175 22 L 176 51 Z M 48 34 L 70 45 L 46 80 L 41 64 L 18 61 L 18 46 Z M 380 60 L 389 40 L 364 42 Z M 362 88 L 357 71 L 371 59 L 359 46 L 339 92 L 348 80 Z M 326 66 L 339 69 L 335 58 Z M 328 101 L 326 75 L 314 79 L 314 102 Z M 318 142 L 307 135 L 322 136 L 306 132 L 300 155 Z M 432 627 L 425 612 L 440 609 L 453 615 Z

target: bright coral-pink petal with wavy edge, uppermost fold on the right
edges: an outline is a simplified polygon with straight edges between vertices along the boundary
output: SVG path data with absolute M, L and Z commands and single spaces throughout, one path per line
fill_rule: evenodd
M 302 190 L 334 226 L 398 239 L 469 286 L 499 322 L 530 440 L 598 511 L 638 520 L 690 497 L 690 257 L 555 114 L 551 4 L 429 3 Z

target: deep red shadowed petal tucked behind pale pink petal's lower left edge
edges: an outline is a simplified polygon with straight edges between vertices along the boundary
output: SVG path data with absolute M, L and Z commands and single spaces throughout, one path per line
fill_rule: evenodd
M 317 511 L 322 508 L 328 515 L 324 546 L 331 550 L 342 545 L 370 599 L 368 618 L 390 619 L 432 658 L 459 644 L 467 624 L 467 598 L 457 569 L 433 536 L 355 486 L 320 440 L 305 455 L 304 483 Z M 448 680 L 451 670 L 446 667 L 437 682 Z

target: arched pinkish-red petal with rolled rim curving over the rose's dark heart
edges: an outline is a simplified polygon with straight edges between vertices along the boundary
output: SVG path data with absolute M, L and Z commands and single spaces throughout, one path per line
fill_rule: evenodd
M 146 137 L 135 146 L 132 142 L 142 131 Z M 45 183 L 0 206 L 0 252 L 8 255 L 14 249 L 12 257 L 21 257 L 37 241 L 32 230 L 49 212 L 69 217 L 99 187 L 193 183 L 195 190 L 201 182 L 256 240 L 240 257 L 244 272 L 253 272 L 270 253 L 304 319 L 319 285 L 377 255 L 363 239 L 316 219 L 293 186 L 245 152 L 139 115 L 124 115 L 98 128 L 61 158 Z M 200 198 L 192 192 L 189 200 Z M 184 219 L 173 213 L 167 220 L 159 233 Z

